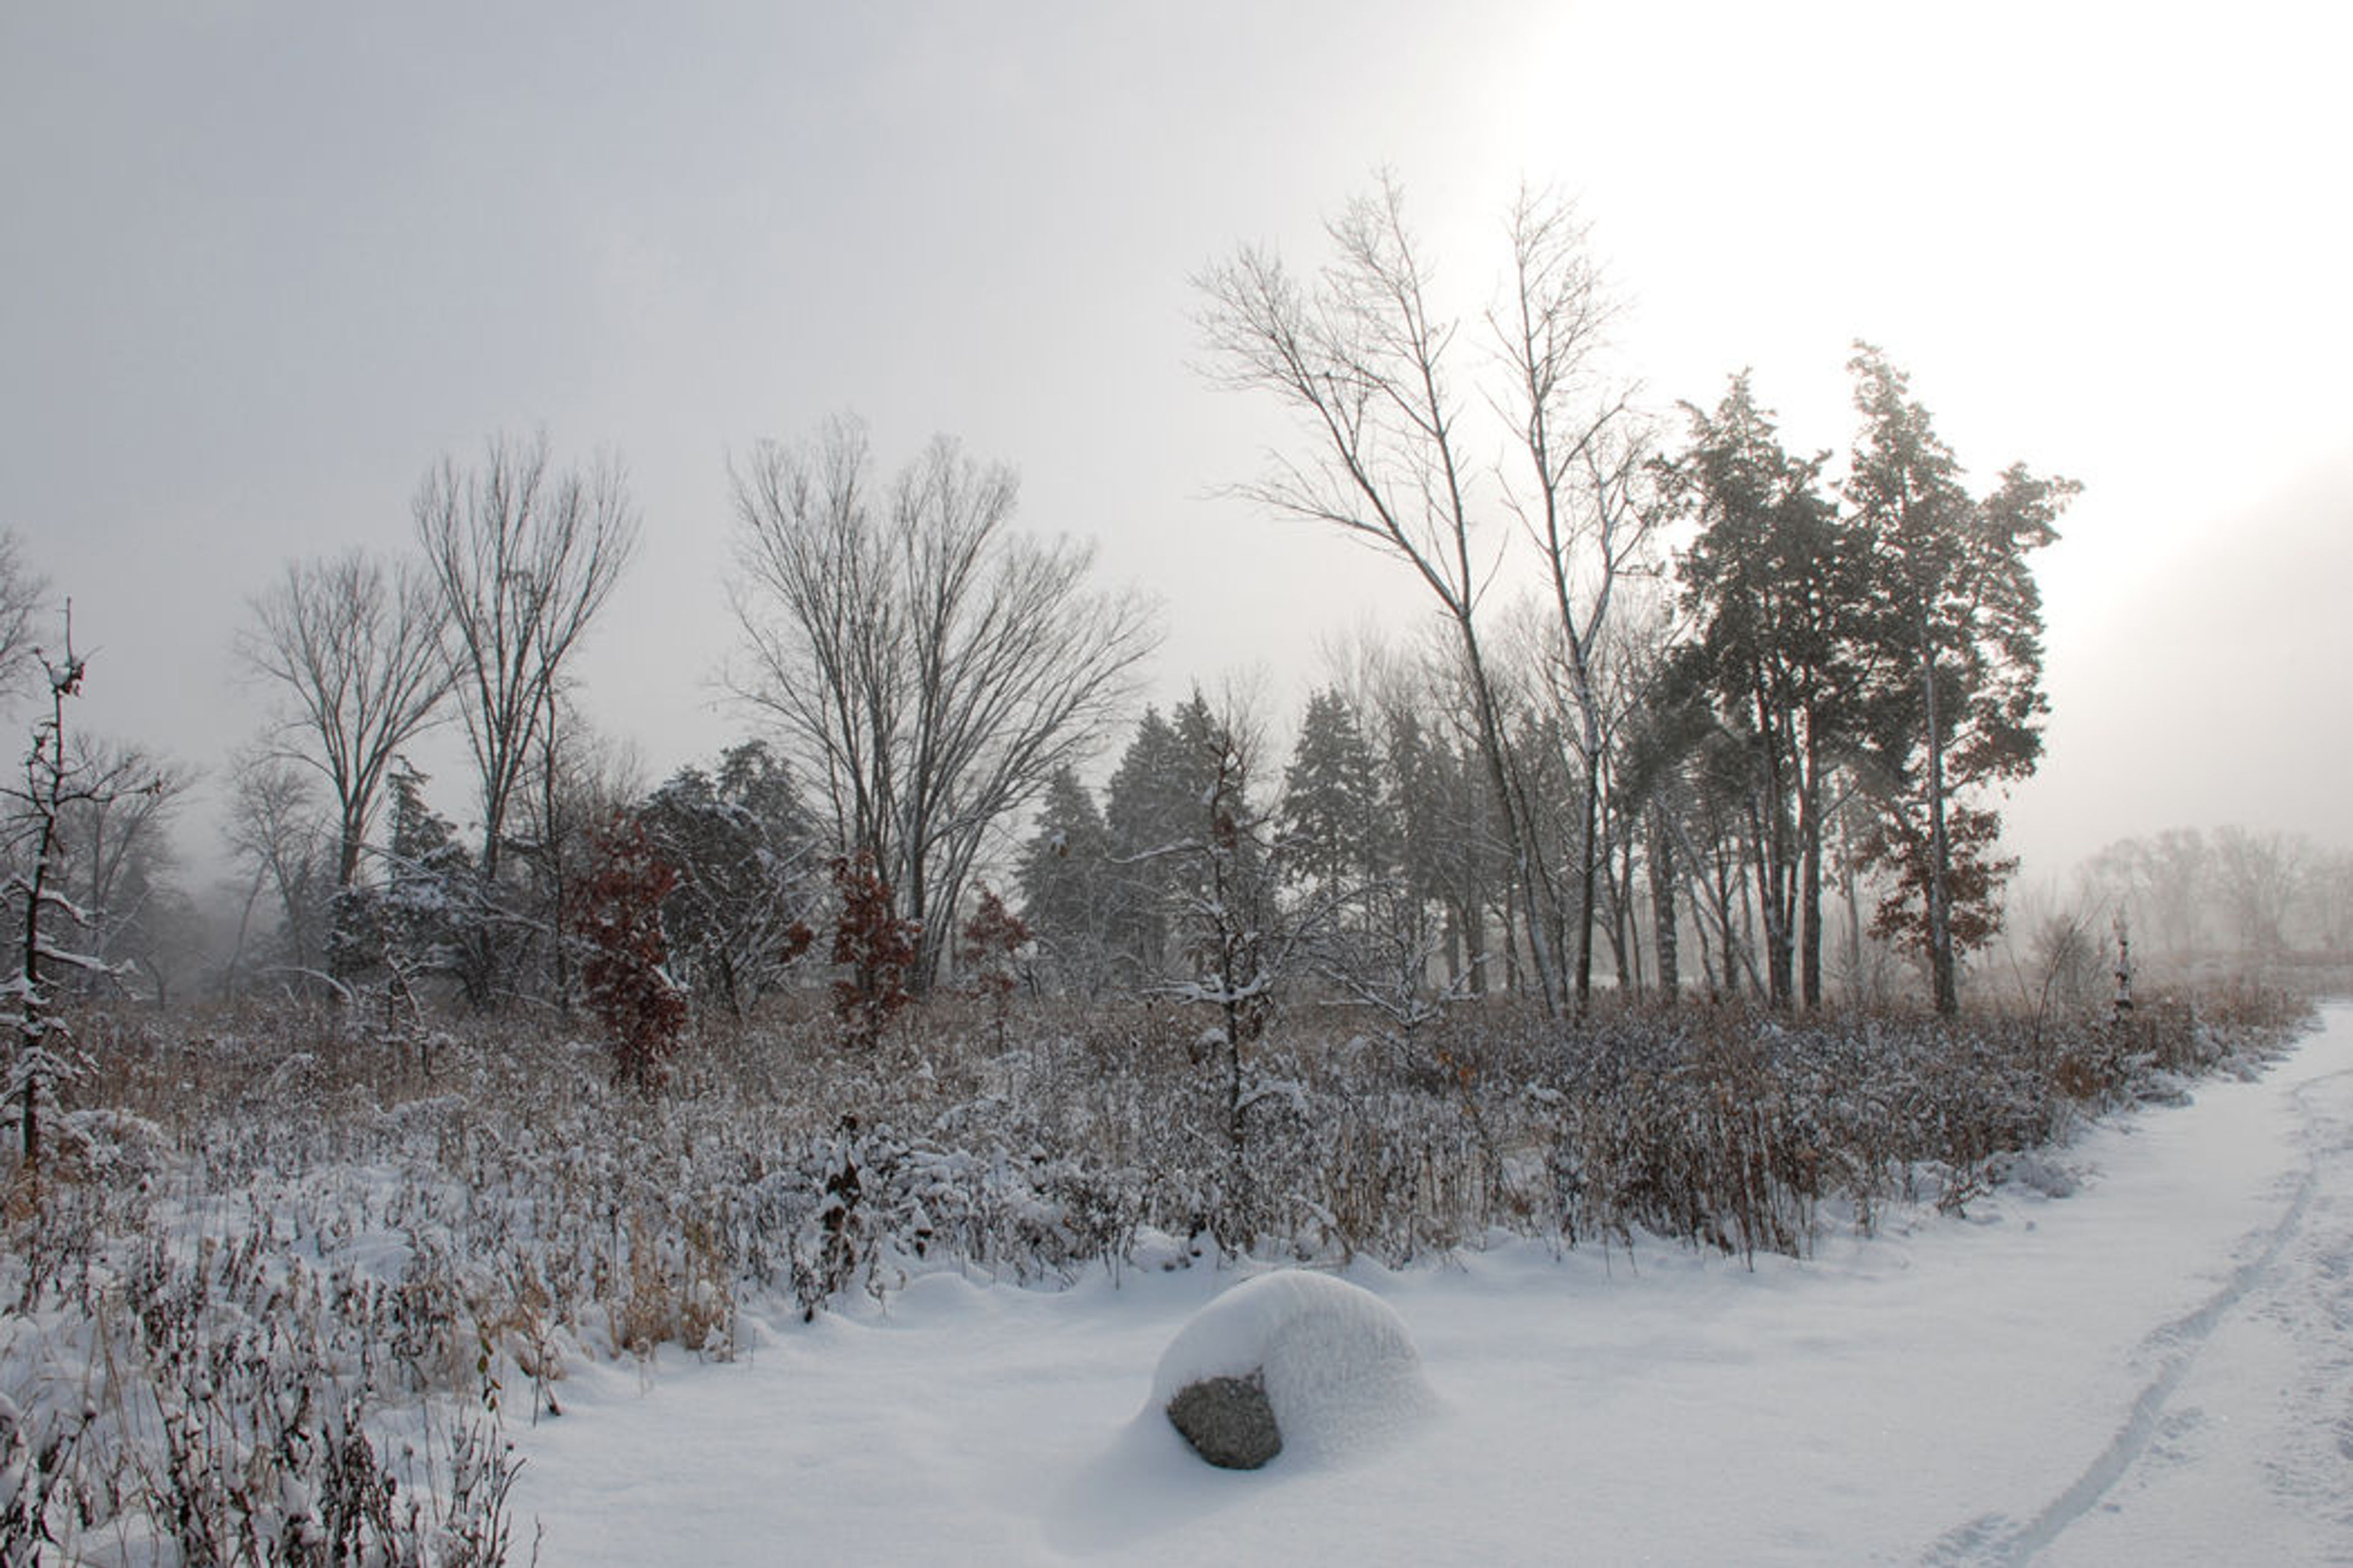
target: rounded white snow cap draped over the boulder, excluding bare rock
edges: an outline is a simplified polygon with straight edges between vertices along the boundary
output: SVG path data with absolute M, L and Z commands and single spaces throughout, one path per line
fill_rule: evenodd
M 1193 1314 L 1160 1354 L 1136 1420 L 1167 1420 L 1169 1401 L 1193 1382 L 1252 1373 L 1266 1380 L 1282 1453 L 1294 1460 L 1367 1450 L 1433 1406 L 1414 1340 L 1388 1302 L 1346 1279 L 1282 1269 Z

